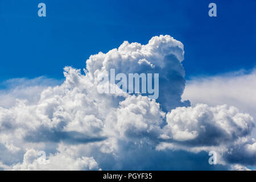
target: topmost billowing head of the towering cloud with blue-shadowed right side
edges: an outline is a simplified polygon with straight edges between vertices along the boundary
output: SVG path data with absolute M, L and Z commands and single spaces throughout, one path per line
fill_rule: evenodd
M 126 75 L 160 73 L 161 86 L 157 101 L 164 111 L 168 111 L 177 106 L 189 106 L 189 101 L 181 102 L 185 88 L 185 72 L 181 64 L 183 60 L 183 44 L 171 36 L 160 35 L 153 37 L 146 45 L 125 41 L 118 49 L 90 56 L 86 61 L 86 75 L 94 78 L 98 84 L 102 74 L 109 75 L 110 68 Z

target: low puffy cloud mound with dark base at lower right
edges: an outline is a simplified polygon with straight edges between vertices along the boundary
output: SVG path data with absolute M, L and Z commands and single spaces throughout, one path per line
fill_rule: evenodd
M 253 117 L 233 106 L 210 107 L 197 104 L 177 107 L 167 113 L 158 150 L 216 151 L 218 163 L 255 164 L 255 151 L 250 138 L 255 127 Z

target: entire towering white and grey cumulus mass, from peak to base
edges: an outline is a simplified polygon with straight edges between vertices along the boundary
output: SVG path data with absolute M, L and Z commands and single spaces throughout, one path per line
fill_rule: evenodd
M 210 150 L 220 155 L 218 164 L 224 167 L 256 164 L 249 114 L 226 105 L 191 107 L 189 101 L 181 102 L 183 59 L 183 44 L 160 35 L 146 45 L 124 42 L 118 49 L 90 56 L 85 74 L 64 68 L 63 84 L 42 89 L 32 101 L 23 97 L 0 107 L 0 168 L 195 169 L 169 160 L 175 155 L 184 162 L 184 155 L 197 155 L 201 161 L 193 163 L 208 163 L 208 156 L 202 155 Z M 158 100 L 126 92 L 98 93 L 110 68 L 125 74 L 159 73 Z M 46 151 L 43 164 L 39 151 Z

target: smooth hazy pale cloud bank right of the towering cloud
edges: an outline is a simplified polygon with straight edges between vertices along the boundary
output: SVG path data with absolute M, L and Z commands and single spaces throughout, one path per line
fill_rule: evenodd
M 217 76 L 192 77 L 187 81 L 182 98 L 189 99 L 193 105 L 235 106 L 256 118 L 255 89 L 256 70 L 241 70 Z

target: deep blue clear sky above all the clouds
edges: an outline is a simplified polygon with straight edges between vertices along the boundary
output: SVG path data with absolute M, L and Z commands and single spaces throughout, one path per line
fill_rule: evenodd
M 39 18 L 38 3 L 47 6 Z M 0 81 L 63 78 L 63 68 L 124 40 L 146 44 L 171 35 L 184 44 L 186 77 L 255 67 L 256 1 L 13 1 L 0 2 Z

